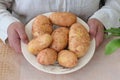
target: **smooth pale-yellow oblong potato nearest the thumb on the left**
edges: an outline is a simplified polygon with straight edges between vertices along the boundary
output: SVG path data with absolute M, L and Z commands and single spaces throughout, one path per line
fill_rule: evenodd
M 28 43 L 28 51 L 37 55 L 41 50 L 47 48 L 52 43 L 52 37 L 49 34 L 43 34 Z

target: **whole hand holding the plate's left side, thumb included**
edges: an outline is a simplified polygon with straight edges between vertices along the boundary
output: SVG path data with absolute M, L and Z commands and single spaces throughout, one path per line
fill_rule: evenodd
M 20 41 L 28 43 L 28 37 L 25 33 L 25 26 L 21 22 L 12 23 L 7 30 L 8 41 L 10 47 L 12 47 L 17 53 L 22 53 Z

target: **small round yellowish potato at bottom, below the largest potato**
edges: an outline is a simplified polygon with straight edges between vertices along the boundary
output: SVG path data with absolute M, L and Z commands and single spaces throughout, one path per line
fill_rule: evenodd
M 75 53 L 69 50 L 62 50 L 58 53 L 58 63 L 64 67 L 74 67 L 78 63 Z

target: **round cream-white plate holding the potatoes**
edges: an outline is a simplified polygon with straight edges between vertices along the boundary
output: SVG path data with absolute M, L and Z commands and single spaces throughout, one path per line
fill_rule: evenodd
M 43 14 L 45 16 L 49 16 L 51 13 L 46 13 Z M 27 33 L 27 36 L 29 38 L 29 40 L 32 39 L 32 22 L 34 19 L 32 19 L 25 27 L 25 31 Z M 89 31 L 89 27 L 88 25 L 81 20 L 80 18 L 77 18 L 77 22 L 82 23 L 85 28 Z M 82 58 L 79 59 L 78 65 L 76 67 L 73 68 L 64 68 L 59 66 L 59 64 L 54 64 L 54 65 L 50 65 L 50 66 L 44 66 L 41 65 L 37 62 L 37 59 L 34 55 L 32 55 L 31 53 L 29 53 L 29 51 L 27 50 L 27 45 L 24 44 L 23 42 L 21 42 L 21 48 L 22 48 L 22 53 L 24 55 L 24 57 L 26 58 L 26 60 L 33 65 L 35 68 L 37 68 L 40 71 L 43 72 L 47 72 L 47 73 L 52 73 L 52 74 L 66 74 L 66 73 L 71 73 L 74 71 L 77 71 L 79 69 L 81 69 L 82 67 L 84 67 L 93 57 L 94 55 L 94 51 L 95 51 L 95 39 L 93 39 L 90 43 L 90 47 L 88 52 L 86 53 L 86 55 Z

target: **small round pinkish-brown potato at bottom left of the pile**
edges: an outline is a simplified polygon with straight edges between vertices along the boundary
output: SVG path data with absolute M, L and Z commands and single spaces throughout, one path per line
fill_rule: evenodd
M 57 52 L 54 49 L 46 48 L 39 52 L 37 60 L 40 64 L 51 65 L 57 60 Z

